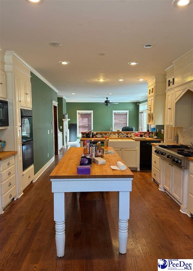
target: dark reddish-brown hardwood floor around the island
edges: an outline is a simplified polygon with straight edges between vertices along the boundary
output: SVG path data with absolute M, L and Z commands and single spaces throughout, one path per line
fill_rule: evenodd
M 157 259 L 193 258 L 193 218 L 158 190 L 151 171 L 133 171 L 126 254 L 118 249 L 117 192 L 67 193 L 58 258 L 49 174 L 64 153 L 0 215 L 1 271 L 156 271 Z

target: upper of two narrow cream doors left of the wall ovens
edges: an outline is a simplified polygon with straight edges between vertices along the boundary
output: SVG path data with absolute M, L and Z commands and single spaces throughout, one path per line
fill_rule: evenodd
M 20 88 L 19 88 L 19 76 L 14 74 L 14 89 L 15 89 L 15 126 L 21 126 L 21 113 L 20 113 Z

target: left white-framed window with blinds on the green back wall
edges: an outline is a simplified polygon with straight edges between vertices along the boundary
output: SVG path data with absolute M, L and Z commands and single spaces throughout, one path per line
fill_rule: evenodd
M 77 110 L 77 137 L 81 132 L 93 130 L 93 110 Z

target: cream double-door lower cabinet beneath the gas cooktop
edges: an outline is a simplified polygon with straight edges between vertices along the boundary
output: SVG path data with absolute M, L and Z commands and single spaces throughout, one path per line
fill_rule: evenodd
M 163 187 L 174 197 L 177 201 L 182 203 L 182 189 L 183 189 L 183 171 L 181 168 L 171 165 L 169 162 L 163 160 L 162 181 Z

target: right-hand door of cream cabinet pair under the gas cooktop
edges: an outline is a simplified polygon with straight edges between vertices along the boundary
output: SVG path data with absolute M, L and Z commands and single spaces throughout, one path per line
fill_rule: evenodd
M 172 191 L 171 194 L 180 203 L 182 203 L 182 185 L 183 185 L 183 173 L 182 169 L 173 166 L 172 167 Z

